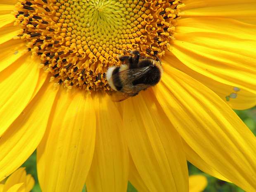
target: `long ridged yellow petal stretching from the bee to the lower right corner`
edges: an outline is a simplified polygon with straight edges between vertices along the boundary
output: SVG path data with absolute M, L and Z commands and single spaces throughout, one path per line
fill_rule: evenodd
M 225 178 L 255 191 L 256 138 L 213 91 L 165 66 L 157 100 L 185 142 Z

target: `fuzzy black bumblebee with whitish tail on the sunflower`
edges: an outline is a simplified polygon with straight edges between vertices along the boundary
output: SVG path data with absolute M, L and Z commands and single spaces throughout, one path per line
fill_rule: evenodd
M 120 66 L 111 66 L 107 70 L 107 81 L 115 92 L 109 93 L 114 102 L 126 100 L 137 95 L 141 90 L 156 85 L 163 72 L 161 62 L 157 58 L 141 57 L 140 52 L 126 51 L 130 55 L 122 55 Z

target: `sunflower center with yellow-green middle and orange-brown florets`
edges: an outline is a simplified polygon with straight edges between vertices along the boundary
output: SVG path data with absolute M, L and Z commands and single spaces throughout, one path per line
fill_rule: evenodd
M 19 0 L 15 12 L 28 50 L 67 88 L 109 90 L 107 68 L 124 50 L 164 55 L 181 0 Z

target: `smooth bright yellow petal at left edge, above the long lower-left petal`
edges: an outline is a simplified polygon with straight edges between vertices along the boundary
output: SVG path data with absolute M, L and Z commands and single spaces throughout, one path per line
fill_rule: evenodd
M 0 72 L 0 136 L 30 101 L 38 76 L 38 64 L 31 59 L 30 54 Z

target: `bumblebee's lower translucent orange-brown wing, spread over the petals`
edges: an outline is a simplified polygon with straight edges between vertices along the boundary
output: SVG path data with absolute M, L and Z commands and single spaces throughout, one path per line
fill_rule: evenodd
M 109 94 L 111 95 L 111 100 L 113 102 L 121 102 L 123 100 L 128 99 L 129 97 L 133 97 L 137 95 L 141 90 L 145 90 L 149 88 L 149 85 L 145 85 L 145 84 L 129 85 L 129 86 L 130 87 L 125 86 L 123 88 L 125 92 L 118 92 L 118 91 L 111 92 Z

